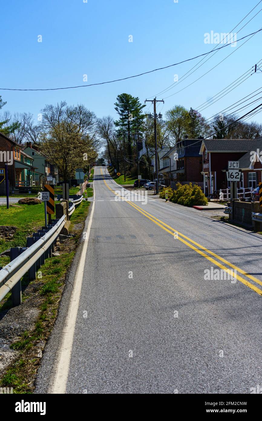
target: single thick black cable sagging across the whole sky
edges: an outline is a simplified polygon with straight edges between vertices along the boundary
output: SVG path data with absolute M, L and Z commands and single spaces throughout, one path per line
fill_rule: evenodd
M 255 32 L 252 32 L 249 35 L 245 35 L 244 37 L 240 38 L 238 41 L 241 41 L 247 37 L 251 37 L 251 35 L 255 35 L 258 32 L 262 31 L 262 28 L 258 29 Z M 248 40 L 247 40 L 248 41 Z M 221 50 L 222 48 L 228 47 L 228 45 L 231 45 L 233 43 L 228 43 L 225 45 L 222 45 L 222 47 L 217 48 L 217 50 Z M 244 43 L 243 43 L 244 44 Z M 242 44 L 242 45 L 243 45 Z M 241 45 L 241 46 L 242 46 Z M 240 47 L 238 47 L 240 48 Z M 237 48 L 237 49 L 238 49 Z M 169 66 L 164 66 L 164 67 L 159 67 L 158 69 L 154 69 L 154 70 L 149 70 L 148 72 L 143 72 L 140 73 L 138 75 L 134 75 L 134 76 L 128 76 L 128 77 L 123 77 L 122 79 L 115 79 L 115 80 L 109 80 L 107 82 L 100 82 L 100 83 L 90 83 L 89 85 L 78 85 L 78 86 L 67 86 L 65 88 L 46 88 L 46 89 L 14 89 L 14 88 L 0 88 L 0 90 L 2 91 L 58 91 L 61 89 L 75 89 L 75 88 L 87 88 L 89 86 L 97 86 L 97 85 L 105 85 L 106 83 L 114 83 L 114 82 L 120 82 L 121 80 L 127 80 L 127 79 L 132 79 L 134 77 L 139 77 L 139 76 L 143 76 L 143 75 L 147 75 L 148 73 L 153 73 L 153 72 L 157 72 L 158 70 L 163 70 L 163 69 L 168 69 L 169 67 L 174 67 L 177 66 L 178 64 L 182 64 L 185 63 L 187 61 L 191 61 L 194 59 L 198 59 L 198 57 L 202 57 L 202 56 L 206 56 L 207 54 L 211 53 L 213 50 L 209 51 L 208 53 L 203 53 L 203 54 L 199 54 L 198 56 L 192 57 L 191 59 L 187 59 L 187 60 L 183 60 L 183 61 L 179 61 L 178 63 L 175 64 L 169 64 Z M 235 50 L 236 51 L 236 50 Z M 232 53 L 231 53 L 232 54 Z M 219 63 L 220 64 L 220 63 Z M 211 69 L 212 70 L 212 69 Z M 189 85 L 188 85 L 189 86 Z M 170 95 L 171 96 L 171 95 Z M 169 98 L 169 97 L 167 97 Z

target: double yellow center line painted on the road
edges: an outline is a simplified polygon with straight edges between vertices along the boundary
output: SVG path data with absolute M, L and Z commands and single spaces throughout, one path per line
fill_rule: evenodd
M 106 187 L 108 187 L 108 189 L 111 190 L 111 192 L 113 192 L 115 195 L 119 196 L 118 193 L 116 193 L 113 189 L 111 189 L 111 187 L 109 187 L 109 185 L 106 183 L 106 180 L 104 179 L 104 176 L 103 176 L 103 173 L 102 173 L 102 169 L 101 169 L 101 175 L 103 177 L 104 183 L 106 184 Z M 187 245 L 192 250 L 196 251 L 196 253 L 200 254 L 203 257 L 205 257 L 207 260 L 209 260 L 210 262 L 212 262 L 214 265 L 220 267 L 220 269 L 223 269 L 225 272 L 230 273 L 230 269 L 228 269 L 228 267 L 224 266 L 222 263 L 227 264 L 228 266 L 230 266 L 230 268 L 235 269 L 238 273 L 241 273 L 242 275 L 244 275 L 245 277 L 251 279 L 252 281 L 256 282 L 257 284 L 262 285 L 262 281 L 260 281 L 256 277 L 254 277 L 251 274 L 245 272 L 244 270 L 242 270 L 238 266 L 235 266 L 234 264 L 230 263 L 229 261 L 225 260 L 224 258 L 218 256 L 216 253 L 214 253 L 211 250 L 208 250 L 206 247 L 204 247 L 201 244 L 198 244 L 196 241 L 191 240 L 191 238 L 186 237 L 181 232 L 178 232 L 176 229 L 172 228 L 171 226 L 165 224 L 160 219 L 158 219 L 155 216 L 151 215 L 151 213 L 148 213 L 148 212 L 146 212 L 146 210 L 141 209 L 135 203 L 130 202 L 128 200 L 126 200 L 126 203 L 128 203 L 130 206 L 132 206 L 133 208 L 135 208 L 136 210 L 138 210 L 138 212 L 142 213 L 143 216 L 145 216 L 146 218 L 150 219 L 150 221 L 152 221 L 154 224 L 160 226 L 160 228 L 164 229 L 164 231 L 168 232 L 172 236 L 176 235 L 177 240 L 183 242 L 183 244 Z M 188 241 L 190 241 L 190 242 L 188 242 Z M 216 258 L 217 260 L 214 260 L 214 258 Z M 220 263 L 220 262 L 222 262 L 222 263 Z M 253 291 L 255 291 L 256 293 L 258 293 L 259 295 L 262 296 L 262 290 L 259 289 L 259 288 L 257 288 L 256 285 L 251 284 L 249 281 L 247 281 L 246 279 L 244 279 L 243 277 L 241 277 L 238 274 L 236 274 L 235 276 L 236 276 L 236 279 L 237 280 L 239 280 L 244 285 L 246 285 L 247 287 L 251 288 Z

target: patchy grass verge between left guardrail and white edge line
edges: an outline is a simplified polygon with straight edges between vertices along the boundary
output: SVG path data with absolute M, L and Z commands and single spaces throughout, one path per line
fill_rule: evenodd
M 59 246 L 60 256 L 48 258 L 36 280 L 28 282 L 25 277 L 22 279 L 22 284 L 26 284 L 27 288 L 23 292 L 21 307 L 24 306 L 24 310 L 29 311 L 37 310 L 38 316 L 34 327 L 22 331 L 19 338 L 11 344 L 10 348 L 16 350 L 18 355 L 0 376 L 0 387 L 13 387 L 13 393 L 28 394 L 34 391 L 42 350 L 56 320 L 66 272 L 76 252 L 89 205 L 88 201 L 82 202 L 71 216 L 70 230 L 75 237 Z M 75 224 L 82 224 L 82 228 L 75 229 Z M 10 306 L 11 299 L 6 296 L 0 303 L 0 315 L 4 310 L 9 309 L 12 312 Z M 21 325 L 23 326 L 22 321 Z

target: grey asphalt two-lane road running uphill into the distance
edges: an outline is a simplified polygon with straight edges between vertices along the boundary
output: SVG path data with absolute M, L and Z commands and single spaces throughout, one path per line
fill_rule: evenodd
M 74 260 L 36 392 L 249 394 L 261 385 L 262 237 L 164 201 L 117 201 L 104 167 L 94 189 L 87 250 Z M 236 277 L 206 279 L 221 268 Z

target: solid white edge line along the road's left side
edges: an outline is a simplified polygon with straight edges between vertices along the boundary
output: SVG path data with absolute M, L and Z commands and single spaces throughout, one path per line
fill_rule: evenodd
M 48 393 L 50 394 L 65 394 L 66 393 L 66 384 L 69 373 L 69 365 L 71 360 L 71 351 L 73 346 L 74 339 L 74 330 L 77 320 L 77 312 L 83 282 L 84 267 L 85 267 L 85 258 L 87 252 L 87 245 L 90 235 L 91 224 L 93 220 L 93 213 L 95 208 L 95 180 L 93 181 L 94 189 L 94 201 L 92 210 L 90 213 L 90 218 L 87 225 L 87 235 L 84 240 L 84 245 L 82 248 L 81 256 L 78 263 L 77 273 L 74 278 L 74 287 L 73 292 L 70 297 L 69 310 L 66 317 L 66 323 L 63 329 L 63 338 L 61 341 L 61 346 L 58 351 L 58 356 L 55 361 L 54 369 L 54 380 L 53 384 L 49 387 Z

